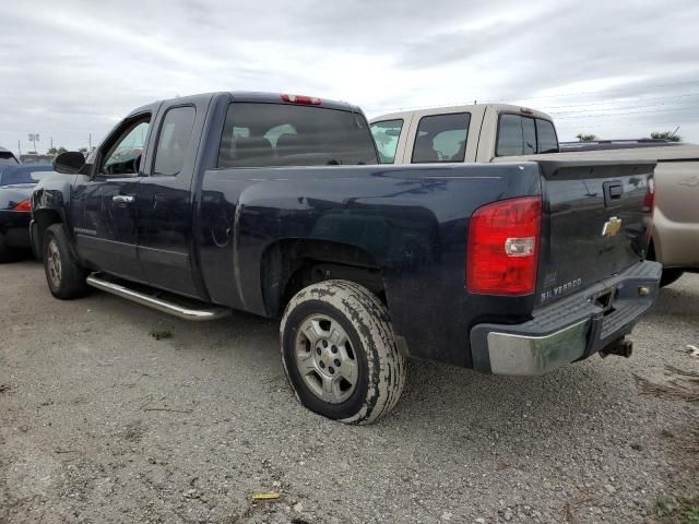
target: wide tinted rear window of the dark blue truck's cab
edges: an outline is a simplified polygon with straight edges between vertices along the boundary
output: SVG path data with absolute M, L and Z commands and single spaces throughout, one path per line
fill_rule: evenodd
M 228 106 L 218 167 L 377 164 L 362 114 L 303 105 L 238 102 Z

